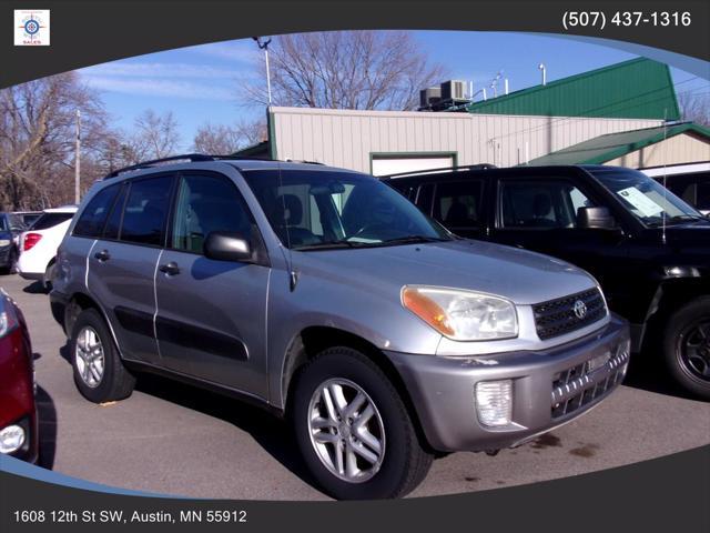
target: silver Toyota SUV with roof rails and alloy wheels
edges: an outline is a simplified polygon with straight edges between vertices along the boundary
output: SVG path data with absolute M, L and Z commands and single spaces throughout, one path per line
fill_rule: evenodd
M 206 155 L 94 185 L 52 280 L 90 401 L 158 372 L 287 416 L 338 499 L 402 496 L 435 454 L 516 446 L 623 379 L 586 272 L 464 240 L 371 175 Z

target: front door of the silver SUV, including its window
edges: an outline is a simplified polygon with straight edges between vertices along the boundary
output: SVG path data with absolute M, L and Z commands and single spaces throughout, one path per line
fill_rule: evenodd
M 164 364 L 178 372 L 266 396 L 270 269 L 203 254 L 213 231 L 258 239 L 252 214 L 226 175 L 180 177 L 169 245 L 155 280 L 155 329 Z

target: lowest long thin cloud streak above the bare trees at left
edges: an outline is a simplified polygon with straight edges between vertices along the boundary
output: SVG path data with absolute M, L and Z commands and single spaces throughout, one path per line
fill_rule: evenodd
M 89 76 L 84 81 L 94 89 L 123 94 L 148 97 L 187 98 L 194 100 L 234 100 L 236 87 L 230 90 L 206 83 L 165 79 L 126 79 L 120 77 Z

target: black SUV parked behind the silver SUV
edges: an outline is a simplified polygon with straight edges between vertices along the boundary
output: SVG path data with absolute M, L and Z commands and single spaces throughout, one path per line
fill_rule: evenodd
M 594 274 L 660 348 L 671 375 L 710 398 L 710 219 L 641 172 L 489 165 L 383 178 L 454 233 L 561 258 Z

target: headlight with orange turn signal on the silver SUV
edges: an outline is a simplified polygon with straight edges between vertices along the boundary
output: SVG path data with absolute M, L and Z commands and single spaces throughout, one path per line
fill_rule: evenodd
M 518 336 L 515 304 L 499 296 L 438 286 L 405 285 L 402 304 L 455 341 Z

